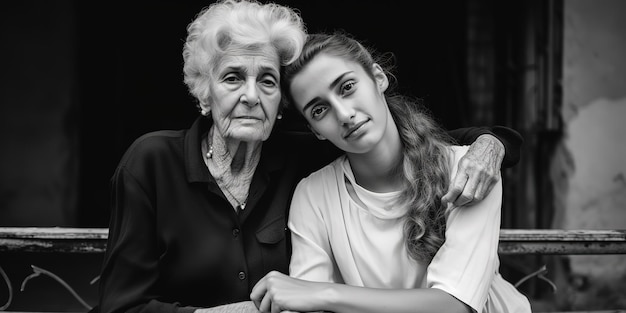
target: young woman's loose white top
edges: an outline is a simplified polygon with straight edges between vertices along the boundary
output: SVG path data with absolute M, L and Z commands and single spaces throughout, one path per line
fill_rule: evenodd
M 451 147 L 452 174 L 467 149 Z M 303 179 L 289 213 L 290 275 L 372 288 L 438 288 L 476 312 L 531 312 L 528 299 L 498 273 L 501 180 L 483 201 L 452 210 L 446 241 L 430 264 L 407 253 L 406 208 L 393 205 L 398 194 L 358 186 L 345 156 Z

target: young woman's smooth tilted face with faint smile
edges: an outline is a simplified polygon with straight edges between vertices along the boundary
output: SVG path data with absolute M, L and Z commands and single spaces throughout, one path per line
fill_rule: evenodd
M 290 91 L 296 108 L 320 139 L 348 153 L 366 153 L 385 135 L 391 118 L 383 92 L 387 77 L 358 63 L 320 54 L 298 73 Z

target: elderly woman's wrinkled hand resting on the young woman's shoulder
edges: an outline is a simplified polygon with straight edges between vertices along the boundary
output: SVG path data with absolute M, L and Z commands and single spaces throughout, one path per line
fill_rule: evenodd
M 484 199 L 500 179 L 504 153 L 504 145 L 496 137 L 479 136 L 459 160 L 459 168 L 441 202 L 458 207 Z

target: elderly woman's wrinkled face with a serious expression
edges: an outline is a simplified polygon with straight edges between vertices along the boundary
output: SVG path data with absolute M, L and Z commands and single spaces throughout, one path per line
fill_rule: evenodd
M 278 56 L 265 51 L 229 51 L 213 71 L 211 114 L 227 140 L 266 140 L 280 105 Z

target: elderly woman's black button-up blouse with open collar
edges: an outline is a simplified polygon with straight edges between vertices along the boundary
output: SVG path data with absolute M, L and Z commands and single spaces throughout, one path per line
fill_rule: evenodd
M 146 134 L 122 157 L 94 311 L 190 312 L 245 301 L 267 272 L 288 272 L 293 189 L 339 151 L 307 132 L 275 131 L 237 214 L 202 159 L 210 126 L 200 117 L 188 130 Z M 461 143 L 483 133 L 505 143 L 505 164 L 517 162 L 521 137 L 508 128 L 451 132 Z

